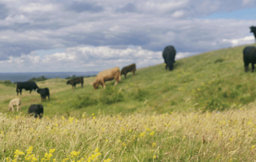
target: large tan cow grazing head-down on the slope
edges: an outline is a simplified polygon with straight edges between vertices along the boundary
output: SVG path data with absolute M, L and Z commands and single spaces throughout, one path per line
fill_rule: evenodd
M 121 72 L 119 67 L 103 70 L 97 75 L 95 81 L 92 84 L 95 90 L 98 89 L 100 84 L 105 88 L 105 81 L 111 81 L 113 79 L 115 79 L 115 85 L 117 85 L 118 81 L 121 81 Z

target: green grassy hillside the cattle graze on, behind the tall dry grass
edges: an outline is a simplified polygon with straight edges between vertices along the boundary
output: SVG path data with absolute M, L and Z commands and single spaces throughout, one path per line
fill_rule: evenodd
M 135 77 L 128 73 L 117 86 L 106 82 L 106 90 L 94 90 L 89 83 L 95 77 L 85 78 L 84 87 L 77 85 L 71 90 L 66 79 L 39 81 L 39 87 L 50 89 L 50 102 L 41 102 L 40 95 L 23 91 L 22 113 L 30 104 L 43 104 L 45 115 L 76 116 L 100 111 L 104 114 L 132 114 L 138 111 L 166 113 L 189 109 L 224 110 L 241 107 L 253 102 L 256 97 L 251 72 L 244 72 L 242 51 L 245 46 L 220 49 L 177 60 L 173 71 L 166 71 L 164 64 L 137 69 Z M 119 92 L 120 90 L 120 92 Z M 113 94 L 107 94 L 113 91 Z M 118 94 L 119 93 L 119 94 Z M 113 103 L 106 104 L 106 98 Z M 15 87 L 0 84 L 0 112 L 7 112 L 9 101 L 15 98 Z M 118 102 L 121 99 L 121 102 Z M 95 103 L 94 101 L 97 101 Z M 88 106 L 89 105 L 89 106 Z

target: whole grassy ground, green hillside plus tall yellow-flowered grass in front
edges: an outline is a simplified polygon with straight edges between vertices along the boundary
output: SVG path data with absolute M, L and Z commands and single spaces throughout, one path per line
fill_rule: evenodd
M 21 112 L 7 112 L 16 88 L 0 83 L 0 157 L 5 162 L 34 162 L 33 154 L 40 162 L 97 161 L 96 156 L 102 162 L 255 161 L 256 75 L 245 73 L 244 47 L 176 60 L 173 71 L 164 64 L 140 68 L 116 86 L 106 82 L 106 89 L 89 85 L 95 77 L 74 90 L 66 79 L 39 81 L 39 87 L 49 88 L 50 102 L 23 91 Z M 30 104 L 43 105 L 42 119 L 26 116 Z

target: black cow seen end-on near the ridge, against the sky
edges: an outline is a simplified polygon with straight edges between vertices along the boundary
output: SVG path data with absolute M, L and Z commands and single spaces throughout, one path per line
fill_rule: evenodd
M 165 69 L 167 70 L 167 67 L 169 67 L 169 70 L 174 69 L 174 58 L 176 55 L 176 50 L 174 49 L 173 46 L 167 46 L 163 50 L 163 58 L 165 60 Z

